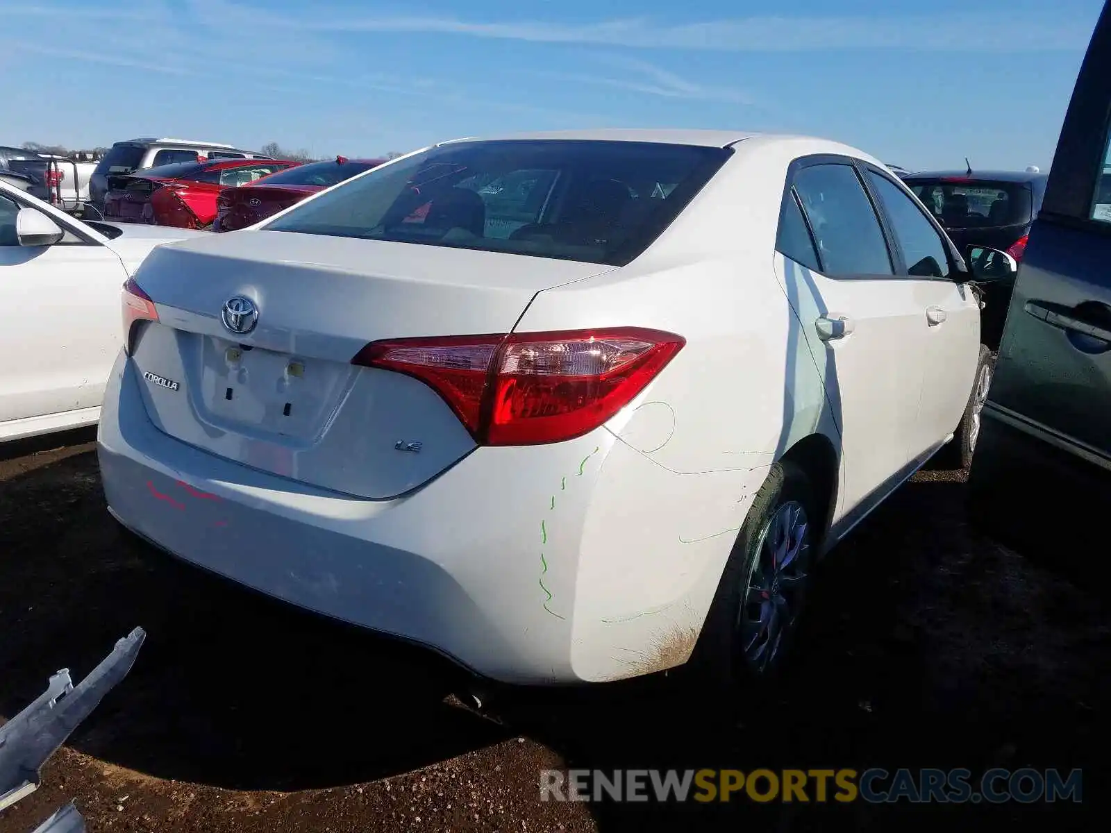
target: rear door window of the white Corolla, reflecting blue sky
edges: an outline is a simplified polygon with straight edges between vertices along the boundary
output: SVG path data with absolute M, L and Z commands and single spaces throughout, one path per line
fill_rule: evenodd
M 893 275 L 891 254 L 871 200 L 851 164 L 828 163 L 794 174 L 824 274 Z

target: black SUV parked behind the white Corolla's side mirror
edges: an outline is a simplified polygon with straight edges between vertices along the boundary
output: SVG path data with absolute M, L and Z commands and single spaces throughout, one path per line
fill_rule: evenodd
M 1048 178 L 1034 172 L 932 171 L 902 179 L 962 252 L 970 245 L 987 247 L 1021 261 Z M 993 281 L 982 289 L 980 340 L 998 351 L 1014 282 Z

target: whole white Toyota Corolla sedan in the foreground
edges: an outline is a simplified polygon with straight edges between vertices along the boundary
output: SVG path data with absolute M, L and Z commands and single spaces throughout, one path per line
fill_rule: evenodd
M 147 259 L 104 491 L 186 561 L 496 680 L 739 680 L 961 430 L 969 280 L 831 141 L 446 142 Z

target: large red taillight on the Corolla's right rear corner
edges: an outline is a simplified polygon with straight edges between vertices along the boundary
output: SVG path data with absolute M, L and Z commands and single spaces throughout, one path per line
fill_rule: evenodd
M 685 343 L 632 327 L 397 339 L 371 342 L 351 362 L 430 385 L 480 445 L 534 445 L 604 423 Z

